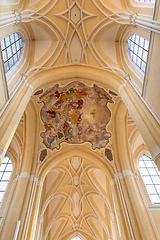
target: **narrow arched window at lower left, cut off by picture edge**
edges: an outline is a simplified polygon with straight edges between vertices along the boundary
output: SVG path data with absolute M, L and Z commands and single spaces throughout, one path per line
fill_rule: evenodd
M 5 156 L 0 166 L 0 204 L 5 194 L 7 184 L 12 174 L 12 162 Z

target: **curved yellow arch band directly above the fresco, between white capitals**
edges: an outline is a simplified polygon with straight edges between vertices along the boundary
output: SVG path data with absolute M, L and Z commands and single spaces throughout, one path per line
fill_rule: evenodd
M 110 87 L 116 91 L 118 91 L 124 79 L 124 76 L 111 70 L 83 64 L 66 64 L 59 67 L 42 68 L 40 71 L 28 76 L 28 82 L 32 84 L 34 91 L 44 87 L 44 77 L 46 79 L 45 86 L 57 82 L 63 85 L 79 78 L 88 85 L 92 85 L 94 81 L 99 86 Z

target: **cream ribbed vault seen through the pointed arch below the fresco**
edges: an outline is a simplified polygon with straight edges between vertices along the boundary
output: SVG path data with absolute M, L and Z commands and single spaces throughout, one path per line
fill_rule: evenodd
M 109 179 L 96 165 L 72 157 L 47 174 L 40 210 L 42 239 L 68 239 L 73 233 L 109 239 L 110 217 Z

